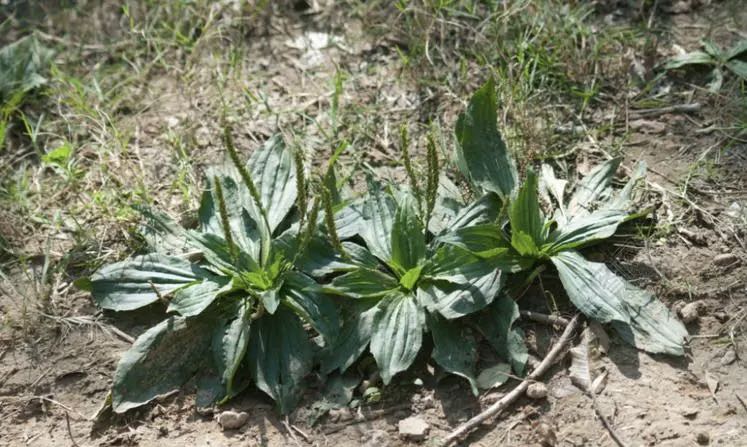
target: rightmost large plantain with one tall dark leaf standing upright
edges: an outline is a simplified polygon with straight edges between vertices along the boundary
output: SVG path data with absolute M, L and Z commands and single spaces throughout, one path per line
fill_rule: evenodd
M 615 275 L 579 250 L 614 235 L 620 224 L 641 217 L 631 211 L 633 191 L 643 178 L 639 165 L 628 184 L 613 191 L 620 159 L 595 168 L 565 200 L 566 181 L 549 166 L 541 178 L 530 168 L 519 186 L 515 164 L 496 128 L 497 103 L 492 82 L 473 96 L 457 122 L 460 167 L 475 188 L 495 191 L 506 206 L 495 222 L 462 228 L 444 242 L 476 256 L 520 269 L 551 263 L 570 301 L 586 316 L 610 323 L 626 342 L 652 353 L 684 354 L 687 330 L 651 293 Z M 554 201 L 554 212 L 540 207 L 539 186 Z

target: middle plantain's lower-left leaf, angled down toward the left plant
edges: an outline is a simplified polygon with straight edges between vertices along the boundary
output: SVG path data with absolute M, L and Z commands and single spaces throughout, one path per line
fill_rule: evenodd
M 376 299 L 354 301 L 344 318 L 340 335 L 322 355 L 322 373 L 345 372 L 363 354 L 371 341 L 374 316 L 381 312 Z

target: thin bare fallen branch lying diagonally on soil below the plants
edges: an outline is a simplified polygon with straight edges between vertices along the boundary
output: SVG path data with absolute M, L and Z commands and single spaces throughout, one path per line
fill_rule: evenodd
M 453 444 L 454 442 L 468 435 L 483 422 L 494 416 L 498 416 L 503 410 L 514 403 L 514 401 L 518 399 L 519 396 L 526 392 L 530 383 L 535 382 L 537 379 L 542 377 L 542 375 L 545 374 L 548 369 L 550 369 L 550 366 L 560 360 L 561 354 L 565 352 L 565 349 L 567 347 L 566 345 L 568 344 L 568 342 L 570 342 L 573 334 L 576 332 L 576 328 L 578 328 L 580 320 L 580 315 L 576 315 L 575 317 L 573 317 L 573 319 L 565 327 L 563 335 L 560 336 L 560 339 L 557 343 L 555 343 L 555 346 L 553 346 L 550 352 L 547 353 L 547 356 L 545 356 L 542 362 L 537 365 L 537 368 L 535 368 L 535 370 L 532 371 L 532 373 L 529 374 L 516 388 L 511 390 L 510 393 L 506 394 L 503 399 L 497 401 L 496 403 L 488 407 L 485 411 L 473 417 L 472 419 L 449 433 L 449 435 L 444 439 L 441 445 L 448 446 Z

